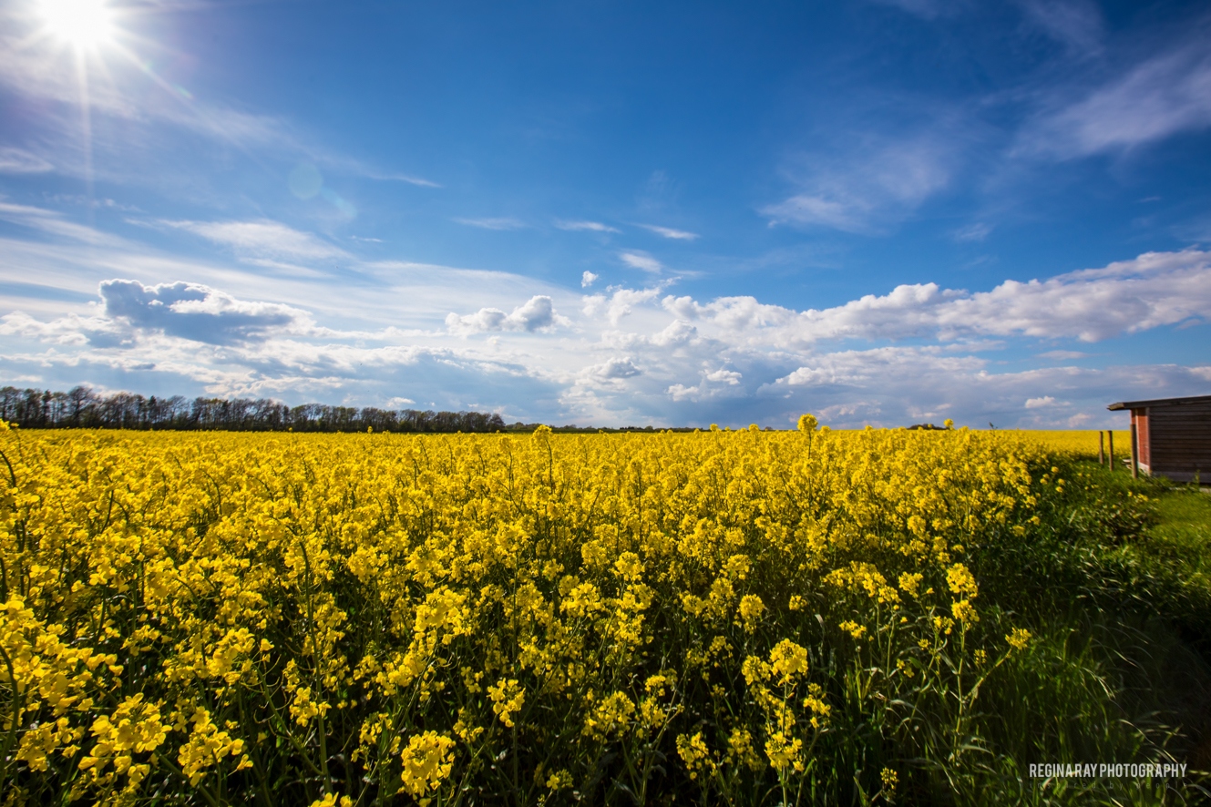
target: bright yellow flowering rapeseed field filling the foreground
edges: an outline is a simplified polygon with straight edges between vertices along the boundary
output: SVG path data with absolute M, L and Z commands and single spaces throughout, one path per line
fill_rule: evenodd
M 842 713 L 935 693 L 960 748 L 1032 641 L 965 544 L 1066 484 L 1031 434 L 810 416 L 0 449 L 0 791 L 28 803 L 808 800 Z M 882 759 L 854 768 L 891 794 Z

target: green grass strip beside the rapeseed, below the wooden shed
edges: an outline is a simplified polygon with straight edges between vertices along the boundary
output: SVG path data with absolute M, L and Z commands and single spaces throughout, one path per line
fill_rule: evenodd
M 1211 496 L 1094 462 L 1060 468 L 1041 524 L 975 547 L 981 599 L 1038 635 L 987 682 L 988 769 L 958 803 L 1211 801 Z M 1176 761 L 1186 779 L 1022 779 L 1029 762 Z

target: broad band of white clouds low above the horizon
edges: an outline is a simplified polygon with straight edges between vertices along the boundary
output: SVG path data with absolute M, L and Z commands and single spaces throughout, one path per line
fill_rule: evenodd
M 94 246 L 0 241 L 0 250 L 10 277 L 22 271 L 63 288 L 79 286 L 64 266 L 84 265 L 82 255 L 101 261 L 90 266 L 130 267 L 124 277 L 137 278 L 105 275 L 91 305 L 73 298 L 22 311 L 19 298 L 2 298 L 4 379 L 39 375 L 48 388 L 90 380 L 139 390 L 154 381 L 183 394 L 379 407 L 408 398 L 434 408 L 500 408 L 528 422 L 793 427 L 799 414 L 813 411 L 836 427 L 945 417 L 972 426 L 991 420 L 998 427 L 1066 427 L 1086 415 L 1080 422 L 1096 428 L 1118 423 L 1107 403 L 1194 394 L 1211 382 L 1205 365 L 1052 367 L 1077 353 L 1066 353 L 1071 345 L 1062 341 L 1034 359 L 1044 365 L 1038 369 L 1006 373 L 994 361 L 1023 361 L 1041 350 L 1040 338 L 1101 339 L 1189 322 L 1180 318 L 1187 313 L 1207 319 L 1211 255 L 1198 252 L 1146 254 L 987 292 L 903 286 L 796 311 L 752 296 L 673 295 L 671 281 L 573 298 L 503 272 L 380 261 L 351 264 L 362 272 L 361 284 L 320 287 L 283 276 L 269 286 L 260 271 Z M 29 263 L 27 253 L 35 252 L 44 263 Z M 207 282 L 147 279 L 155 276 Z M 263 299 L 266 288 L 270 300 Z M 506 313 L 510 307 L 497 300 L 526 302 Z M 452 313 L 443 325 L 435 312 L 452 310 L 471 313 Z M 477 333 L 500 338 L 466 339 Z M 930 341 L 883 344 L 906 338 Z M 836 339 L 856 341 L 831 345 Z M 1016 352 L 986 353 L 994 348 Z M 1054 405 L 1025 405 L 1048 398 Z

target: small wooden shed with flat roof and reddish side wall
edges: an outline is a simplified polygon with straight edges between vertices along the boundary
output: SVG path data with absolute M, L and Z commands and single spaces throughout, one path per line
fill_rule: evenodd
M 1107 409 L 1131 410 L 1131 454 L 1140 471 L 1211 483 L 1211 396 L 1124 400 Z

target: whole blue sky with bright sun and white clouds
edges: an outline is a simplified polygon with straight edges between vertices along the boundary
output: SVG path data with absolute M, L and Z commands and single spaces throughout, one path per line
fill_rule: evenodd
M 1123 427 L 1211 392 L 1198 2 L 0 5 L 0 385 Z

